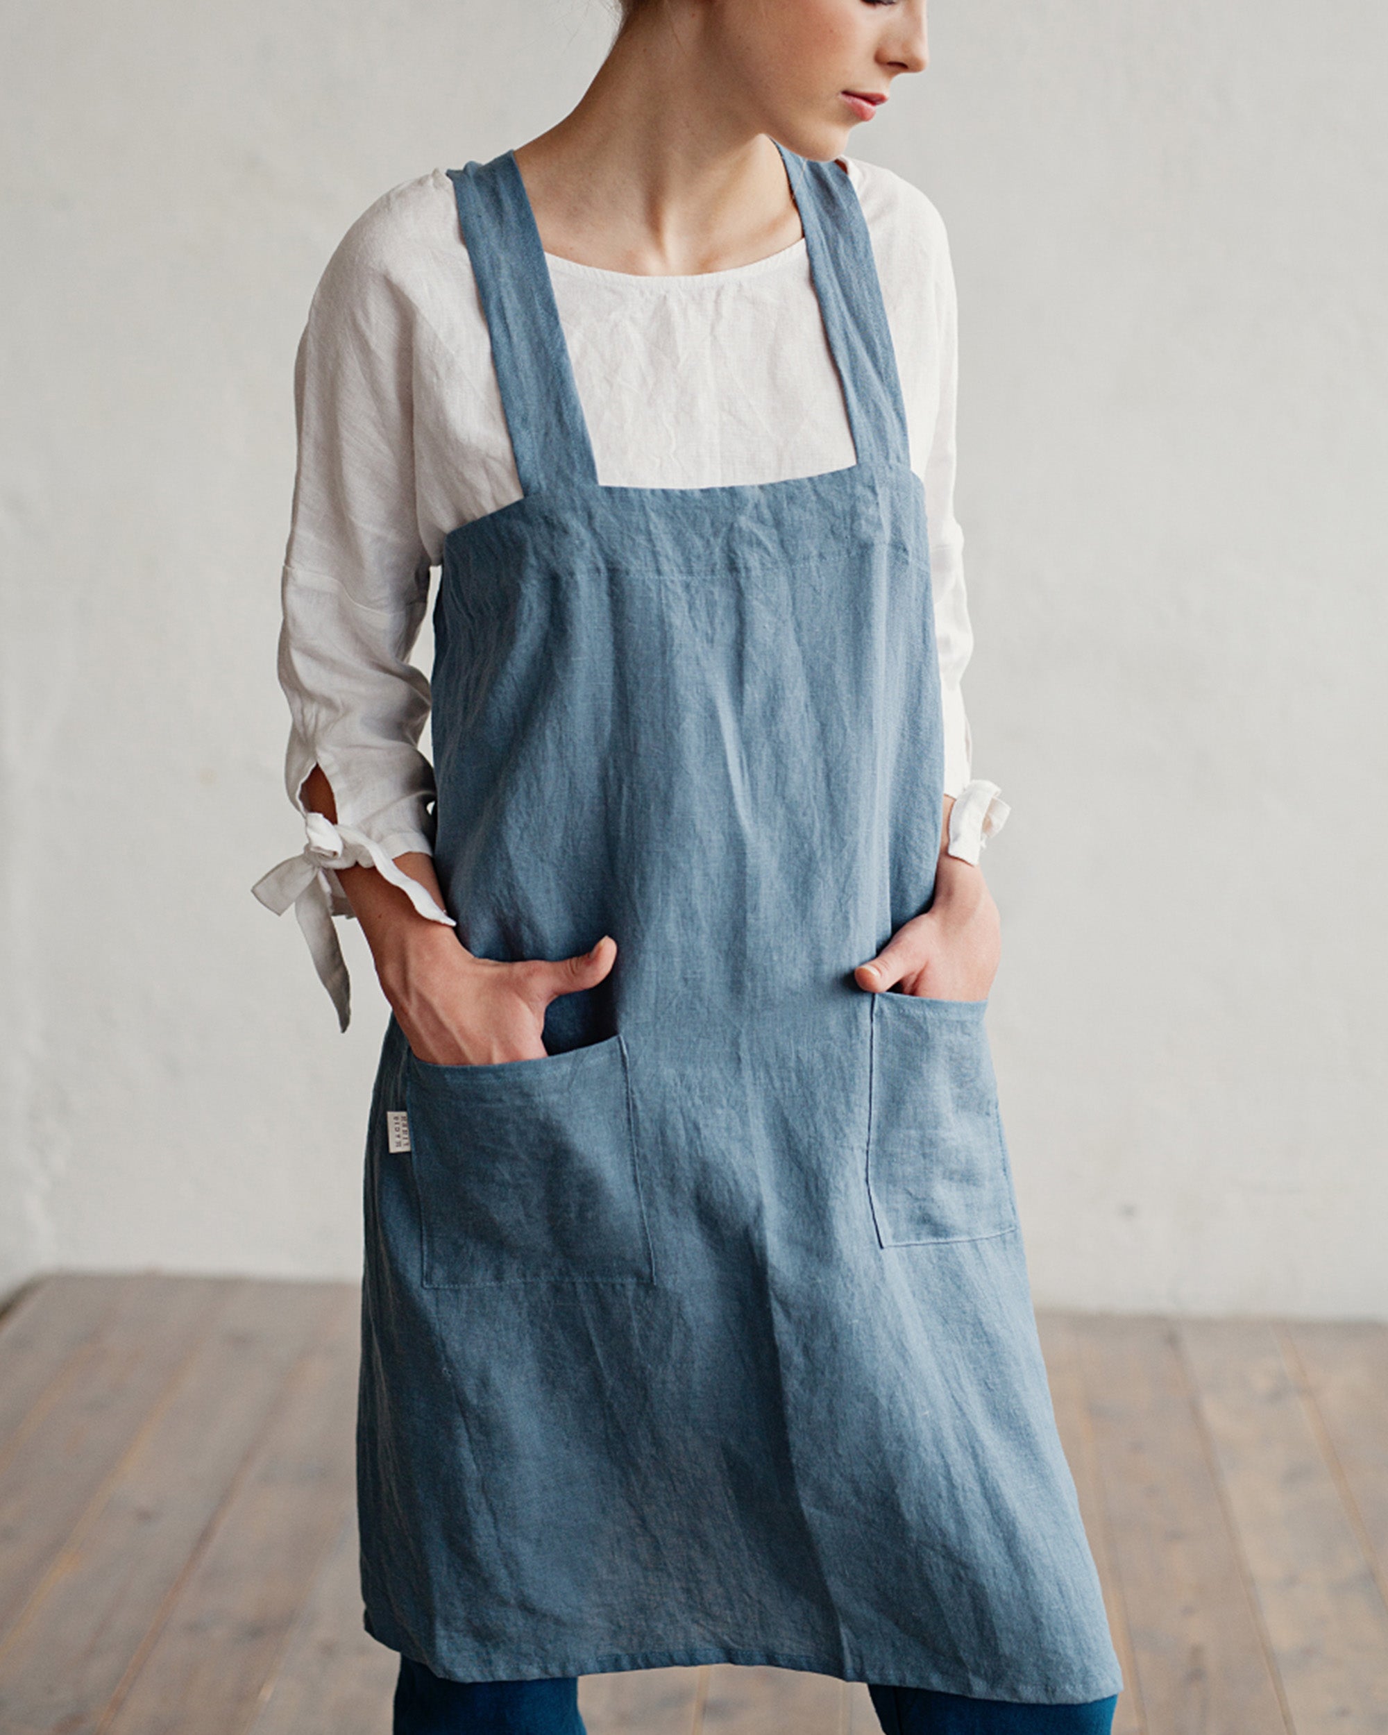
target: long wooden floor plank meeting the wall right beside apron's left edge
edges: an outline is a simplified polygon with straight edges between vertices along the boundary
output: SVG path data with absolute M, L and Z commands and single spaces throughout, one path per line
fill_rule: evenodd
M 102 1735 L 241 1735 L 352 1499 L 357 1291 L 324 1284 L 323 1329 L 135 1657 Z

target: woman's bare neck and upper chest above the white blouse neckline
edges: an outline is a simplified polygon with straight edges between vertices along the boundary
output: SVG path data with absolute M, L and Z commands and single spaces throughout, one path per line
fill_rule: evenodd
M 606 271 L 682 276 L 765 259 L 802 234 L 786 172 L 684 10 L 651 7 L 583 99 L 520 146 L 545 250 Z

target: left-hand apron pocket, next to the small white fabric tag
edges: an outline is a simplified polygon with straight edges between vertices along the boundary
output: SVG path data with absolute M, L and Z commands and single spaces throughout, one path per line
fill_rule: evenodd
M 435 1067 L 406 1058 L 425 1289 L 652 1277 L 626 1044 Z

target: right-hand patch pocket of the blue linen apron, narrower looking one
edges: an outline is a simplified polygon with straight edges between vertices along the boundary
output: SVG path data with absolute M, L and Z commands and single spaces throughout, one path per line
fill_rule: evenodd
M 1017 1227 L 985 1006 L 873 996 L 868 1192 L 883 1247 Z

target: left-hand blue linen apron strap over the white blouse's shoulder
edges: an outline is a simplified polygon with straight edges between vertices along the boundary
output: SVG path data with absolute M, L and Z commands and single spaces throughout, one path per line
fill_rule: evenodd
M 569 347 L 559 323 L 550 267 L 526 194 L 507 151 L 491 163 L 449 168 L 463 245 L 491 333 L 491 359 L 520 488 L 597 484 L 588 423 L 578 401 Z

